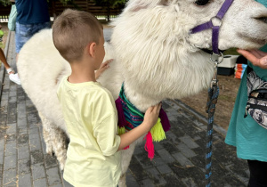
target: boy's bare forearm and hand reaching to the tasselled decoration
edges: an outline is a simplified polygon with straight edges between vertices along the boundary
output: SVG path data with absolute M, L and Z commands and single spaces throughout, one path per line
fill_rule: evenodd
M 148 133 L 150 129 L 155 126 L 158 121 L 159 110 L 161 109 L 161 103 L 156 106 L 150 107 L 144 116 L 144 120 L 140 126 L 135 127 L 133 130 L 120 135 L 120 144 L 117 150 L 123 150 L 126 146 L 136 141 L 142 135 Z

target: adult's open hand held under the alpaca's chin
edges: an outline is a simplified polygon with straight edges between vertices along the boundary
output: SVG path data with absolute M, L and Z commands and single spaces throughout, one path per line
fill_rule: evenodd
M 257 49 L 249 51 L 238 49 L 238 53 L 242 54 L 248 61 L 251 61 L 253 65 L 267 69 L 267 53 Z

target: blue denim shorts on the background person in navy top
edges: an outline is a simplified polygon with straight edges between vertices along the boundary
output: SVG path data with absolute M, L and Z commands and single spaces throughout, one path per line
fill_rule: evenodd
M 16 22 L 16 53 L 20 53 L 20 49 L 28 39 L 44 28 L 51 28 L 51 23 L 44 22 L 25 25 Z

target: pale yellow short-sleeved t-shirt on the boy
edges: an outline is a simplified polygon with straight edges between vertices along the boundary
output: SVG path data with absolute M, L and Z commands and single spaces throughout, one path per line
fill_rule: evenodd
M 71 84 L 64 77 L 57 94 L 70 137 L 64 179 L 74 186 L 117 186 L 120 137 L 111 93 L 100 83 Z

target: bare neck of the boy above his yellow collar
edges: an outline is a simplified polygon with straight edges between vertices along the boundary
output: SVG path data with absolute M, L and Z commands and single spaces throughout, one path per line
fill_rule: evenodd
M 90 64 L 88 61 L 71 63 L 71 74 L 68 78 L 69 83 L 96 82 L 93 66 L 88 64 Z

